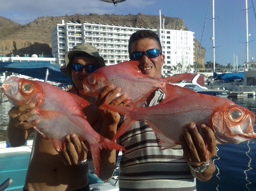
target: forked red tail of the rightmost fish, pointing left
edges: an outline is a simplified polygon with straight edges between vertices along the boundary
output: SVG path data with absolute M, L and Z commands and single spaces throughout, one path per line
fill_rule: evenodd
M 117 133 L 115 134 L 112 140 L 116 140 L 118 137 L 124 134 L 133 125 L 133 123 L 135 123 L 136 121 L 139 121 L 138 117 L 140 115 L 136 115 L 137 112 L 135 113 L 135 108 L 127 107 L 127 106 L 106 105 L 106 104 L 102 105 L 102 107 L 115 112 L 119 112 L 123 115 L 126 115 L 124 123 L 119 127 L 119 129 L 117 130 Z M 136 110 L 139 110 L 139 109 L 141 108 L 136 108 Z

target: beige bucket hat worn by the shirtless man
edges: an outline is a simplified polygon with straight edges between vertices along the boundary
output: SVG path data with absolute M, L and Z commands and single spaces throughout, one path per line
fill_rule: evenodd
M 77 45 L 74 46 L 71 51 L 68 51 L 65 54 L 65 65 L 60 68 L 61 72 L 66 76 L 71 77 L 69 64 L 74 55 L 76 55 L 77 53 L 86 53 L 88 55 L 91 55 L 97 60 L 99 67 L 106 66 L 103 57 L 100 56 L 98 50 L 95 47 L 89 44 Z

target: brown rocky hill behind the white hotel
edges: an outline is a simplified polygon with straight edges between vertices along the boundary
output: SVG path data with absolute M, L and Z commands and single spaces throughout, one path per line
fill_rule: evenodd
M 165 28 L 173 30 L 188 30 L 184 21 L 180 18 L 165 17 Z M 51 30 L 57 23 L 65 22 L 94 22 L 107 23 L 108 25 L 126 25 L 143 28 L 159 28 L 159 17 L 157 15 L 116 15 L 116 14 L 89 14 L 89 15 L 65 15 L 61 17 L 39 17 L 31 23 L 20 25 L 0 17 L 0 55 L 10 56 L 24 54 L 51 55 Z M 199 42 L 195 40 L 195 53 L 198 53 Z M 205 49 L 200 50 L 198 63 L 203 63 Z M 197 56 L 197 55 L 195 55 Z

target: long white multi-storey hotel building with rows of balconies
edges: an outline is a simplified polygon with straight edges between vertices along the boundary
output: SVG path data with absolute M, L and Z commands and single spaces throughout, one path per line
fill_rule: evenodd
M 89 43 L 98 49 L 106 65 L 117 64 L 129 60 L 130 35 L 143 29 L 155 31 L 159 35 L 159 30 L 153 28 L 62 21 L 52 28 L 52 55 L 62 66 L 67 51 L 76 45 Z M 163 75 L 193 72 L 194 32 L 165 29 L 160 37 L 165 54 Z M 176 71 L 172 71 L 174 66 Z

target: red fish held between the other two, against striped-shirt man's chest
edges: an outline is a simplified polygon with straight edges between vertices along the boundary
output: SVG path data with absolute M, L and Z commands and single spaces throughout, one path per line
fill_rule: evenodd
M 195 74 L 179 74 L 166 78 L 153 78 L 142 74 L 138 64 L 137 61 L 129 61 L 99 68 L 83 80 L 84 90 L 80 93 L 98 97 L 106 85 L 112 84 L 114 88 L 121 88 L 119 95 L 127 93 L 128 99 L 131 100 L 130 106 L 142 106 L 155 89 L 160 88 L 167 94 L 167 91 L 171 91 L 167 89 L 168 83 L 191 81 L 195 76 Z

